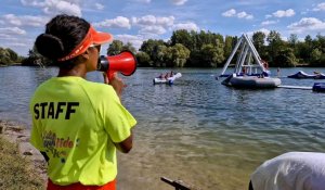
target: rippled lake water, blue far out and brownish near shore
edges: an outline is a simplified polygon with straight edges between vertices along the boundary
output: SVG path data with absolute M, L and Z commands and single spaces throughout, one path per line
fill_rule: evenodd
M 322 81 L 285 77 L 299 69 L 325 73 L 282 68 L 282 84 L 311 87 Z M 29 99 L 56 72 L 0 67 L 0 119 L 30 128 Z M 268 159 L 288 151 L 324 152 L 325 93 L 233 89 L 214 79 L 221 69 L 174 69 L 183 76 L 173 86 L 154 86 L 152 79 L 165 72 L 139 68 L 123 77 L 122 102 L 139 124 L 131 153 L 118 154 L 119 189 L 174 189 L 160 180 L 164 176 L 204 190 L 245 190 L 250 174 Z M 88 79 L 102 81 L 99 72 Z

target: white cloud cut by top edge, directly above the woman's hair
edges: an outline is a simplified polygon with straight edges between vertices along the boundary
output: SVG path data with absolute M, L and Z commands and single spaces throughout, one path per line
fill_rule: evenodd
M 79 0 L 21 0 L 21 2 L 23 3 L 23 5 L 41 8 L 44 13 L 50 15 L 65 13 L 69 15 L 81 16 Z

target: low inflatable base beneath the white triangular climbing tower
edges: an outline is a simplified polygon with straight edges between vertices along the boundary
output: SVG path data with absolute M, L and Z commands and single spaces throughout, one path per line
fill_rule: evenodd
M 236 76 L 236 74 L 233 74 L 223 80 L 222 85 L 249 89 L 276 88 L 281 85 L 281 79 L 257 76 Z

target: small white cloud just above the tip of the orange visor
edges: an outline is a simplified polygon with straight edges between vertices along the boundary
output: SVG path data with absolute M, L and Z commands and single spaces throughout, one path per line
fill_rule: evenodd
M 131 28 L 130 20 L 123 16 L 117 16 L 114 20 L 105 20 L 100 23 L 93 23 L 93 26 L 108 28 Z

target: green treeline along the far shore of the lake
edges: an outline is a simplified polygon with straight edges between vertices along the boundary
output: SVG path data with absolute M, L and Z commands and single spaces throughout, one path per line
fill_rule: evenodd
M 287 40 L 283 40 L 280 33 L 272 30 L 269 35 L 257 31 L 251 40 L 261 59 L 268 61 L 270 66 L 325 66 L 325 36 L 317 35 L 312 39 L 308 35 L 301 41 L 292 34 Z M 138 51 L 131 43 L 125 45 L 120 40 L 114 40 L 107 49 L 107 54 L 132 51 L 139 66 L 145 67 L 221 67 L 237 41 L 236 36 L 223 37 L 211 31 L 180 29 L 173 31 L 167 42 L 155 39 L 144 41 Z M 22 64 L 51 65 L 51 62 L 29 50 L 28 58 L 23 59 Z

